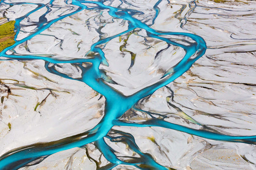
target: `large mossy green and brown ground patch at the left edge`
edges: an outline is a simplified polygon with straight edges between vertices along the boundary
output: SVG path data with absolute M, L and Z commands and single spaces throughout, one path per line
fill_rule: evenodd
M 0 25 L 0 51 L 15 43 L 14 23 L 15 21 L 10 21 Z

